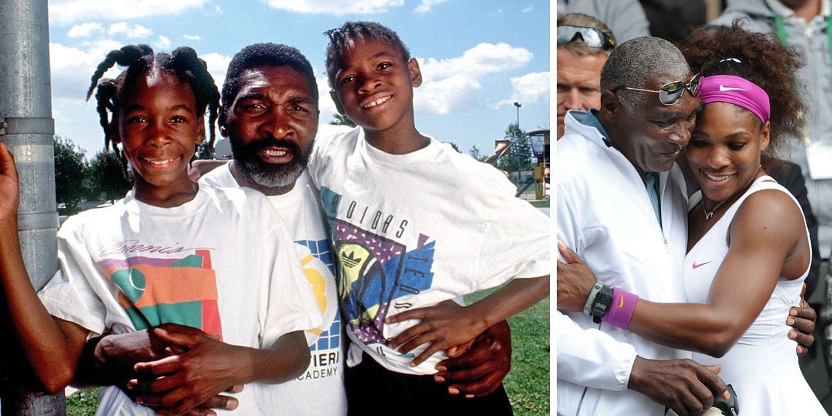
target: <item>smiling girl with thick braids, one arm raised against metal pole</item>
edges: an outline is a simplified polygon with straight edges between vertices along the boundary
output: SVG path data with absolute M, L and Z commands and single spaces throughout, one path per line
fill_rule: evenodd
M 121 75 L 99 81 L 116 63 L 126 67 Z M 38 294 L 17 240 L 14 161 L 0 143 L 0 283 L 32 369 L 60 391 L 88 336 L 150 329 L 180 348 L 136 364 L 146 379 L 128 384 L 136 402 L 181 414 L 252 383 L 236 396 L 238 413 L 263 414 L 266 383 L 306 368 L 302 331 L 319 316 L 265 197 L 201 188 L 187 176 L 206 108 L 214 138 L 219 92 L 206 63 L 190 47 L 168 55 L 126 46 L 98 66 L 87 97 L 96 87 L 106 146 L 131 167 L 133 188 L 113 206 L 67 219 L 57 234 L 60 270 Z M 108 387 L 98 414 L 154 412 Z

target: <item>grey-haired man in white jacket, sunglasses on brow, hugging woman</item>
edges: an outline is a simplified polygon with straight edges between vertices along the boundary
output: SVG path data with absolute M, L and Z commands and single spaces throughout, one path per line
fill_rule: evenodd
M 557 238 L 609 288 L 683 302 L 676 276 L 687 195 L 674 162 L 701 107 L 699 77 L 670 42 L 638 37 L 612 51 L 601 91 L 600 110 L 567 112 L 557 142 Z M 609 290 L 593 290 L 583 314 L 556 314 L 557 414 L 661 416 L 665 407 L 678 414 L 710 407 L 726 389 L 716 369 L 593 322 L 617 307 Z

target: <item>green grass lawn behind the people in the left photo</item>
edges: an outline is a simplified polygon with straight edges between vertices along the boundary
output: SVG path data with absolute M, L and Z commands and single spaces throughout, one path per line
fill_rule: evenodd
M 488 292 L 471 295 L 468 302 Z M 549 414 L 549 299 L 508 319 L 512 328 L 512 371 L 503 384 L 517 416 Z M 67 416 L 96 413 L 98 390 L 81 390 L 67 397 Z

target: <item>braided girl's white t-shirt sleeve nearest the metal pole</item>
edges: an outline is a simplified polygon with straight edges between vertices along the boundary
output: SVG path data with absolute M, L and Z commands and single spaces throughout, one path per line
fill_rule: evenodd
M 38 297 L 52 316 L 102 334 L 107 310 L 97 290 L 106 290 L 107 279 L 92 261 L 80 232 L 58 232 L 57 258 L 60 268 Z

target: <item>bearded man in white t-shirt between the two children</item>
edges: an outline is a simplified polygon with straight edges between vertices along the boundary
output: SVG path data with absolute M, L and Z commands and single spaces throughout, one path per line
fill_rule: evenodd
M 305 171 L 318 132 L 318 89 L 312 68 L 294 48 L 250 45 L 230 62 L 222 97 L 220 131 L 230 141 L 234 161 L 203 176 L 201 186 L 244 186 L 268 197 L 288 225 L 324 315 L 323 325 L 306 331 L 312 354 L 309 369 L 298 379 L 271 386 L 258 405 L 272 409 L 269 414 L 346 414 L 342 341 L 347 339 L 340 337 L 334 257 L 329 253 L 319 192 Z M 446 370 L 435 379 L 448 383 L 450 394 L 488 394 L 508 374 L 510 342 L 508 324 L 497 324 L 480 335 L 468 353 L 440 362 Z M 141 348 L 115 344 L 107 341 L 106 354 L 98 355 L 130 355 L 126 351 Z M 235 406 L 234 399 L 222 396 L 206 403 L 214 408 Z

